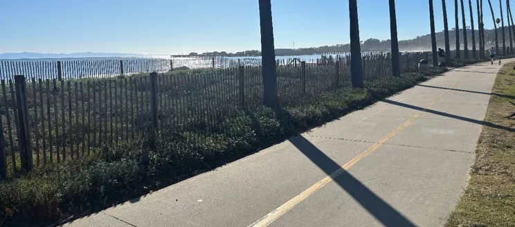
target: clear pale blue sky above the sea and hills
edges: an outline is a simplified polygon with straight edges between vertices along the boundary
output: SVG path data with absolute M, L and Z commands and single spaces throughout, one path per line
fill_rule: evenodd
M 500 17 L 499 1 L 491 1 Z M 454 1 L 446 2 L 453 28 Z M 397 0 L 396 6 L 399 39 L 429 33 L 427 0 Z M 468 6 L 467 1 L 467 25 Z M 493 28 L 487 0 L 483 7 L 485 26 Z M 390 37 L 388 0 L 359 0 L 358 8 L 362 40 Z M 440 31 L 442 1 L 434 0 L 434 8 Z M 272 13 L 276 48 L 292 48 L 293 42 L 296 47 L 349 42 L 347 0 L 272 0 Z M 0 7 L 0 53 L 168 55 L 257 49 L 258 0 L 6 0 Z

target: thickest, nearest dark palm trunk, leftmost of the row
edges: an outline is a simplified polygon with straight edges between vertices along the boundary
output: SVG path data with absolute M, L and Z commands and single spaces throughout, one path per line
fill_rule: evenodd
M 259 0 L 261 52 L 263 76 L 263 105 L 279 105 L 277 93 L 277 74 L 275 72 L 275 47 L 273 45 L 273 22 L 271 0 Z

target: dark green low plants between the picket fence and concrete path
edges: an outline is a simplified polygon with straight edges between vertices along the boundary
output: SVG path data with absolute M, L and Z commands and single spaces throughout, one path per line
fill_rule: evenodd
M 240 110 L 219 127 L 161 131 L 154 140 L 142 138 L 104 147 L 80 161 L 37 167 L 0 183 L 0 222 L 15 226 L 22 221 L 55 222 L 112 206 L 366 107 L 442 73 L 439 70 L 378 78 L 366 82 L 364 89 L 342 87 L 306 96 L 282 109 Z

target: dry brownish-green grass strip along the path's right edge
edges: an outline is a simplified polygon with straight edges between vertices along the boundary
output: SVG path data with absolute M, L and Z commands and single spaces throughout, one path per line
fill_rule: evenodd
M 514 128 L 515 62 L 498 72 L 485 122 Z M 515 131 L 484 124 L 469 185 L 446 226 L 515 226 Z

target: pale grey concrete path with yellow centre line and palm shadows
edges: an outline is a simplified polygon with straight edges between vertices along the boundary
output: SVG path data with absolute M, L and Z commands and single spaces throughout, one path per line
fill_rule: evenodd
M 455 69 L 64 226 L 442 226 L 467 186 L 498 69 Z

